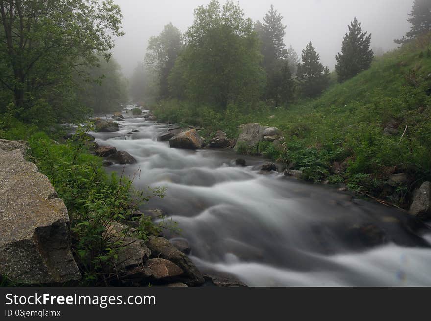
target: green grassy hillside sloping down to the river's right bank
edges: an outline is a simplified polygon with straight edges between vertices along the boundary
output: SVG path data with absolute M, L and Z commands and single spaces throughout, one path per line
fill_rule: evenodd
M 236 137 L 241 123 L 278 127 L 286 142 L 263 143 L 260 150 L 303 170 L 304 179 L 346 183 L 406 206 L 413 189 L 431 178 L 430 43 L 431 35 L 387 53 L 318 99 L 284 108 L 216 112 L 165 101 L 154 112 L 165 121 L 202 126 L 208 137 L 216 130 Z M 396 173 L 406 173 L 407 180 L 389 184 Z

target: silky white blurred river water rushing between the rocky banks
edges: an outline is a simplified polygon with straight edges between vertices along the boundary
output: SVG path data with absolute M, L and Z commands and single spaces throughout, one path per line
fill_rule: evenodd
M 135 157 L 124 171 L 138 173 L 136 188 L 167 188 L 142 210 L 159 208 L 178 222 L 201 271 L 249 286 L 431 286 L 431 230 L 406 212 L 262 174 L 259 157 L 238 167 L 233 151 L 170 148 L 156 140 L 169 125 L 131 116 L 119 124 L 119 132 L 92 134 Z M 371 247 L 373 239 L 385 242 Z

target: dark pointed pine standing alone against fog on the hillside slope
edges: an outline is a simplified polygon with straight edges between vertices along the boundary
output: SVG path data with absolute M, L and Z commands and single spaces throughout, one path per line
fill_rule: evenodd
M 367 35 L 366 32 L 362 32 L 361 24 L 355 17 L 349 25 L 349 32 L 344 36 L 341 53 L 336 56 L 335 70 L 339 82 L 350 79 L 370 68 L 374 59 L 370 44 L 371 34 Z

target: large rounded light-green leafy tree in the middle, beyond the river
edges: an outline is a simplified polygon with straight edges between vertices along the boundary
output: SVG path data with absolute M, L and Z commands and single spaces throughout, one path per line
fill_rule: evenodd
M 186 47 L 172 70 L 171 87 L 181 80 L 188 99 L 225 109 L 229 103 L 248 104 L 261 95 L 262 56 L 251 19 L 239 5 L 218 1 L 199 6 L 185 34 Z

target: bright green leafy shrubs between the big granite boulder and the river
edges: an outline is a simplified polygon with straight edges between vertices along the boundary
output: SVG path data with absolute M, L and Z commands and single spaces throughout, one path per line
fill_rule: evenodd
M 88 130 L 88 129 L 87 129 Z M 78 130 L 65 144 L 54 143 L 46 134 L 29 139 L 31 160 L 51 180 L 71 218 L 72 251 L 83 272 L 85 285 L 109 284 L 112 267 L 123 240 L 107 230 L 120 220 L 130 219 L 137 206 L 151 196 L 163 197 L 163 190 L 150 196 L 132 188 L 132 180 L 115 173 L 107 175 L 102 159 L 86 150 L 86 129 Z M 154 232 L 142 226 L 141 235 Z

